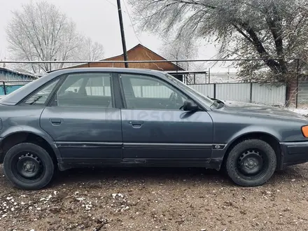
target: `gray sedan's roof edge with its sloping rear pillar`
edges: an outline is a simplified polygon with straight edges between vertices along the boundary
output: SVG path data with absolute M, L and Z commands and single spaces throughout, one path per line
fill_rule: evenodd
M 156 71 L 151 69 L 132 69 L 132 68 L 104 68 L 104 67 L 84 67 L 84 68 L 71 68 L 52 71 L 37 80 L 28 83 L 27 85 L 20 87 L 18 90 L 8 94 L 6 97 L 0 99 L 0 104 L 15 105 L 20 100 L 24 99 L 27 95 L 31 94 L 34 90 L 37 90 L 41 85 L 48 83 L 50 80 L 57 76 L 62 76 L 68 73 L 83 73 L 83 72 L 111 72 L 111 73 L 139 73 L 145 75 L 158 76 L 160 78 L 167 79 L 162 71 Z

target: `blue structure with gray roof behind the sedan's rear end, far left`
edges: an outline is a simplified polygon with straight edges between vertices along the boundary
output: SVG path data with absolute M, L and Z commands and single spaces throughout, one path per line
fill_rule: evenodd
M 36 80 L 31 73 L 22 73 L 11 69 L 0 67 L 0 95 L 10 94 L 31 80 Z

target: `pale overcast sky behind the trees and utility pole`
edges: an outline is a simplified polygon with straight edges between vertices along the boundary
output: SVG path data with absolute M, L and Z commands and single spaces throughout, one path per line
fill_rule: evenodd
M 0 59 L 9 59 L 6 50 L 6 26 L 12 17 L 12 10 L 20 9 L 23 3 L 29 3 L 31 0 L 0 0 Z M 33 0 L 34 2 L 36 0 Z M 127 49 L 130 49 L 141 41 L 149 49 L 158 52 L 162 49 L 162 39 L 158 35 L 149 34 L 148 32 L 137 31 L 134 34 L 128 12 L 132 15 L 130 5 L 127 0 L 122 1 L 123 20 L 125 27 L 125 37 L 127 40 Z M 97 41 L 104 45 L 105 57 L 120 55 L 123 53 L 120 37 L 120 28 L 118 24 L 118 10 L 116 8 L 116 0 L 48 0 L 48 2 L 58 6 L 62 12 L 76 22 L 78 31 L 90 36 L 93 41 Z M 200 47 L 199 57 L 209 59 L 216 55 L 216 49 L 213 45 L 202 45 Z

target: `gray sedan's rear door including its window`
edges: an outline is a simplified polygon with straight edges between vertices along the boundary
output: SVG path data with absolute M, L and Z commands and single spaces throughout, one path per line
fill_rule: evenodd
M 71 73 L 41 115 L 66 163 L 120 162 L 122 130 L 111 73 Z

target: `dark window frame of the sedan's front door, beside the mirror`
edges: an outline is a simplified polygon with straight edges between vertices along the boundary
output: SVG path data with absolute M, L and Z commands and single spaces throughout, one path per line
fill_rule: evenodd
M 122 99 L 122 104 L 123 104 L 123 109 L 128 109 L 127 108 L 127 104 L 126 104 L 126 99 L 125 99 L 125 93 L 124 93 L 124 87 L 123 87 L 123 82 L 121 80 L 120 75 L 121 74 L 126 74 L 126 75 L 130 75 L 130 76 L 147 76 L 150 78 L 155 78 L 158 79 L 160 81 L 162 81 L 163 83 L 167 84 L 168 86 L 171 86 L 171 90 L 172 88 L 176 89 L 178 92 L 181 92 L 181 94 L 183 94 L 185 97 L 187 97 L 188 99 L 192 100 L 195 104 L 197 104 L 197 106 L 200 107 L 200 111 L 205 111 L 203 108 L 203 106 L 200 106 L 200 104 L 198 102 L 195 101 L 195 99 L 192 99 L 190 96 L 188 96 L 188 94 L 186 94 L 185 92 L 183 92 L 183 90 L 179 89 L 178 87 L 172 85 L 171 83 L 169 83 L 168 81 L 159 78 L 158 76 L 153 76 L 151 74 L 146 74 L 146 73 L 131 73 L 131 72 L 117 72 L 117 78 L 118 78 L 118 82 L 120 83 L 120 94 L 121 94 L 121 99 Z M 152 111 L 181 111 L 180 109 L 129 109 L 129 110 L 152 110 Z M 185 111 L 184 111 L 185 112 Z

